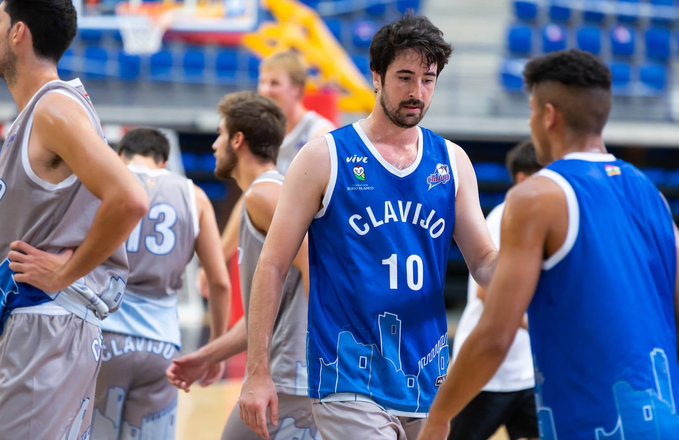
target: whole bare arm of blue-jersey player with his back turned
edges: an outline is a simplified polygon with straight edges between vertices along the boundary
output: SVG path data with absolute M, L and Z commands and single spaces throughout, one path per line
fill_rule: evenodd
M 528 309 L 545 256 L 566 238 L 567 219 L 564 193 L 545 177 L 532 177 L 509 191 L 483 314 L 462 344 L 418 439 L 445 439 L 449 420 L 492 378 Z

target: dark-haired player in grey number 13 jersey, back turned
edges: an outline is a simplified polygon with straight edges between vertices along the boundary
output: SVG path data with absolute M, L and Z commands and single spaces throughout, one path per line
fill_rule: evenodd
M 153 128 L 131 130 L 120 141 L 118 153 L 143 184 L 151 208 L 127 241 L 125 301 L 102 324 L 93 439 L 134 438 L 139 432 L 145 438 L 175 437 L 177 388 L 165 369 L 181 346 L 177 291 L 194 252 L 209 285 L 210 340 L 227 325 L 231 289 L 215 212 L 202 189 L 164 169 L 169 151 L 166 137 Z M 202 384 L 222 373 L 223 363 L 210 365 Z

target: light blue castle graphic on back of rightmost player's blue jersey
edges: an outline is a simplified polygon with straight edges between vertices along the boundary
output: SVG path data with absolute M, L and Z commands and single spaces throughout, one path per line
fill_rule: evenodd
M 595 428 L 595 440 L 637 440 L 637 437 L 625 437 L 627 430 L 634 433 L 643 432 L 644 440 L 671 440 L 661 437 L 661 433 L 673 429 L 679 433 L 679 415 L 672 393 L 672 378 L 669 375 L 669 364 L 665 351 L 654 348 L 650 352 L 650 363 L 653 365 L 655 376 L 655 390 L 635 390 L 628 382 L 621 380 L 613 385 L 615 406 L 618 420 L 610 431 L 604 426 Z M 554 417 L 550 407 L 543 406 L 542 387 L 544 378 L 536 371 L 536 409 L 540 426 L 541 440 L 559 440 L 554 424 Z M 661 425 L 661 426 L 659 426 Z

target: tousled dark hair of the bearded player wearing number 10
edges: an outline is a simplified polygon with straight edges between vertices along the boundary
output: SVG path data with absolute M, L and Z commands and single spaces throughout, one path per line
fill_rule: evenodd
M 436 63 L 439 75 L 453 52 L 452 45 L 443 39 L 443 32 L 425 16 L 407 14 L 382 26 L 370 43 L 370 70 L 377 72 L 384 84 L 384 74 L 391 62 L 401 52 L 414 49 L 422 54 L 429 67 Z

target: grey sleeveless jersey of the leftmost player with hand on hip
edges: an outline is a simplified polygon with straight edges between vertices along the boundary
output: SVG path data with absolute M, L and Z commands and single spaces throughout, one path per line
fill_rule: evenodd
M 14 240 L 23 240 L 50 253 L 79 246 L 100 205 L 75 175 L 54 184 L 40 179 L 31 168 L 29 138 L 33 111 L 48 93 L 63 94 L 79 103 L 94 130 L 104 138 L 99 118 L 79 79 L 50 81 L 35 93 L 10 127 L 0 151 L 1 255 L 7 255 Z M 120 306 L 127 273 L 127 257 L 124 246 L 120 246 L 104 263 L 67 289 L 45 293 L 29 285 L 17 285 L 5 259 L 0 265 L 0 332 L 12 311 L 54 314 L 58 306 L 59 310 L 66 309 L 98 324 L 100 318 Z

